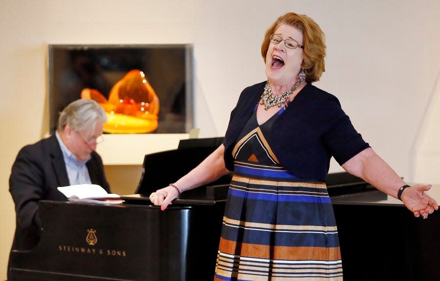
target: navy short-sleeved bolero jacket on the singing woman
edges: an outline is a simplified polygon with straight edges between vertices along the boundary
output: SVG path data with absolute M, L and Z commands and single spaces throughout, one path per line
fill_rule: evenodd
M 247 87 L 231 112 L 223 144 L 226 168 L 234 170 L 232 150 L 260 100 L 266 82 Z M 344 164 L 370 145 L 354 129 L 339 100 L 307 84 L 272 127 L 269 145 L 286 170 L 300 178 L 325 181 L 330 159 Z

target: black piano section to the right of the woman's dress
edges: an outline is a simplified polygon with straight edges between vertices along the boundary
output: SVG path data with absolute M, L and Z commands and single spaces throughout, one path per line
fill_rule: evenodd
M 371 186 L 344 193 L 330 195 L 344 280 L 440 281 L 439 211 L 416 218 L 400 200 Z M 428 193 L 440 202 L 440 185 Z

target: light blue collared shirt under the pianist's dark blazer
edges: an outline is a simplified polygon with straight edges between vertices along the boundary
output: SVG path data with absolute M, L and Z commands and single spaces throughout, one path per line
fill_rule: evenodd
M 90 160 L 88 159 L 78 162 L 76 160 L 75 154 L 73 154 L 64 142 L 61 140 L 58 131 L 55 131 L 55 136 L 57 137 L 58 143 L 60 144 L 61 151 L 63 152 L 64 163 L 66 164 L 67 177 L 69 178 L 69 184 L 81 185 L 81 184 L 91 184 L 90 175 L 88 174 L 88 169 L 86 163 Z

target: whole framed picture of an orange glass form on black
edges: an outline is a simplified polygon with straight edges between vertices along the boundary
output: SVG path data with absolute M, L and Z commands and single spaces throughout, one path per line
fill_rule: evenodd
M 63 108 L 79 98 L 104 107 L 105 133 L 193 128 L 192 45 L 49 45 L 48 58 L 50 133 Z

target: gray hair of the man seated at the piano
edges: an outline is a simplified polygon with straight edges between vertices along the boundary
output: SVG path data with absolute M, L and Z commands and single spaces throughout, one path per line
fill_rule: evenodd
M 95 124 L 107 122 L 104 109 L 92 99 L 77 99 L 69 103 L 58 118 L 58 132 L 61 133 L 68 124 L 74 131 L 94 130 Z

